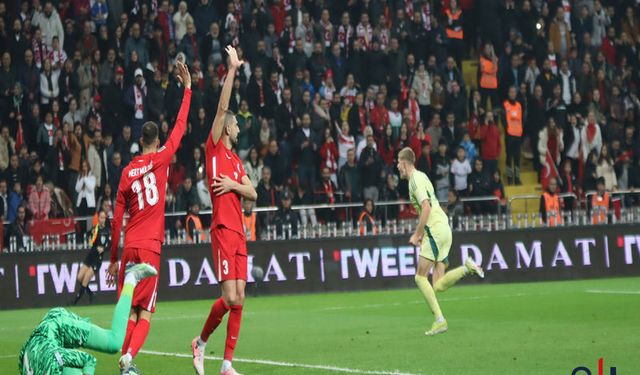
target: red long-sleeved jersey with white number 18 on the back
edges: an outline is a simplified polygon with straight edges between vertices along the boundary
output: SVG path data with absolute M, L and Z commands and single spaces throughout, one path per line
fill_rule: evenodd
M 164 242 L 164 205 L 171 157 L 180 146 L 191 103 L 191 90 L 185 88 L 176 124 L 157 152 L 134 157 L 122 171 L 116 196 L 116 209 L 111 222 L 111 261 L 118 261 L 120 227 L 125 205 L 129 222 L 125 227 L 124 247 L 135 247 L 160 253 Z

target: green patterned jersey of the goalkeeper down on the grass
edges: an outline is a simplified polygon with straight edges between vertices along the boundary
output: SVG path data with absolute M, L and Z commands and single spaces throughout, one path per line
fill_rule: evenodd
M 60 375 L 64 367 L 80 368 L 84 373 L 93 374 L 96 358 L 75 350 L 87 341 L 88 322 L 89 319 L 63 308 L 49 310 L 20 350 L 20 374 Z

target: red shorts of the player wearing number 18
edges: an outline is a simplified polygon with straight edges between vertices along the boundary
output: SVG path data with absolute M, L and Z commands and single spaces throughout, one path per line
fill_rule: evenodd
M 120 271 L 118 272 L 118 297 L 124 284 L 124 270 L 127 263 L 148 263 L 156 268 L 160 274 L 160 254 L 151 250 L 137 249 L 133 247 L 125 248 L 120 260 Z M 158 298 L 158 276 L 147 277 L 136 286 L 133 291 L 131 307 L 155 312 L 156 299 Z

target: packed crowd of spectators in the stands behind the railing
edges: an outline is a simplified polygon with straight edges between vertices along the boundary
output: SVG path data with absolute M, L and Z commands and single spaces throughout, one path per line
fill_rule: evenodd
M 285 207 L 259 216 L 262 228 L 292 220 L 292 203 L 368 200 L 360 218 L 372 221 L 374 202 L 407 194 L 395 170 L 406 146 L 452 207 L 504 198 L 498 123 L 515 102 L 507 183 L 520 182 L 522 146 L 543 176 L 558 169 L 561 191 L 582 195 L 600 177 L 608 190 L 640 187 L 638 10 L 633 0 L 0 2 L 0 215 L 18 234 L 25 215 L 110 210 L 142 124 L 156 121 L 161 142 L 173 126 L 178 58 L 193 99 L 167 204 L 209 208 L 203 144 L 227 44 L 245 59 L 230 108 L 238 154 L 257 205 Z M 463 74 L 463 60 L 478 67 Z

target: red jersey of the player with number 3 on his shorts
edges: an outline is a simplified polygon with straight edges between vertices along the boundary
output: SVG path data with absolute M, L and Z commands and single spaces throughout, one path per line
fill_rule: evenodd
M 207 138 L 205 157 L 212 204 L 211 229 L 223 226 L 244 236 L 240 195 L 235 192 L 228 192 L 216 196 L 211 188 L 211 185 L 215 182 L 213 178 L 221 174 L 238 183 L 242 183 L 242 177 L 246 175 L 242 161 L 238 155 L 224 145 L 222 140 L 219 139 L 218 143 L 214 143 L 211 135 Z

